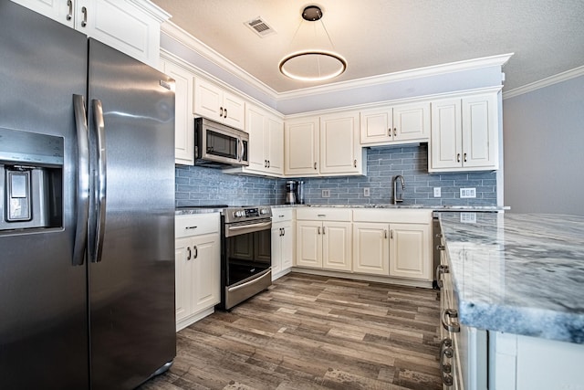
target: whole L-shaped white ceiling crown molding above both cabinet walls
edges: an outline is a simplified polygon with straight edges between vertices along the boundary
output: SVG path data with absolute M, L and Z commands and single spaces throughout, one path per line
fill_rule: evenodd
M 480 69 L 486 67 L 499 66 L 502 67 L 506 62 L 513 56 L 514 53 L 501 54 L 497 56 L 490 56 L 484 58 L 474 58 L 466 59 L 463 61 L 451 62 L 441 65 L 433 65 L 430 67 L 402 70 L 399 72 L 387 73 L 380 76 L 372 76 L 369 78 L 353 79 L 348 81 L 340 81 L 337 83 L 331 83 L 324 86 L 308 87 L 300 90 L 291 90 L 287 92 L 276 92 L 276 90 L 271 89 L 266 86 L 265 83 L 261 82 L 259 79 L 255 79 L 254 76 L 247 73 L 244 69 L 239 68 L 235 63 L 223 55 L 219 54 L 212 47 L 205 45 L 196 37 L 183 30 L 183 28 L 176 26 L 171 21 L 166 21 L 161 27 L 162 34 L 178 41 L 186 47 L 189 47 L 195 53 L 199 54 L 203 58 L 208 59 L 213 62 L 216 66 L 224 69 L 238 79 L 241 79 L 245 83 L 249 84 L 256 90 L 260 90 L 273 100 L 288 100 L 288 99 L 298 99 L 303 98 L 308 95 L 314 96 L 319 93 L 337 92 L 343 90 L 351 90 L 355 88 L 368 87 L 373 85 L 385 84 L 389 82 L 407 80 L 407 79 L 418 79 L 426 76 L 440 75 L 444 73 L 452 73 L 455 71 L 470 70 L 470 69 Z

